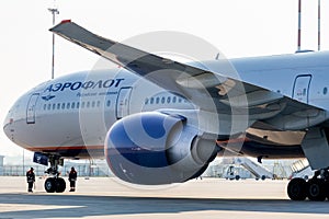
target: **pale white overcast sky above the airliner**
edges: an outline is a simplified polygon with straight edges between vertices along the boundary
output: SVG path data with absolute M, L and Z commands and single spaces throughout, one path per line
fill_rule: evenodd
M 56 23 L 71 19 L 117 42 L 155 31 L 203 38 L 227 58 L 291 54 L 297 48 L 297 0 L 56 0 Z M 50 78 L 54 0 L 11 0 L 0 7 L 0 120 L 27 90 Z M 317 49 L 317 0 L 303 1 L 302 48 Z M 326 12 L 327 11 L 327 12 Z M 329 1 L 322 1 L 322 50 L 329 48 Z M 161 43 L 161 42 L 159 42 Z M 193 46 L 193 45 L 191 45 Z M 216 54 L 214 54 L 215 58 Z M 92 69 L 99 57 L 56 37 L 55 77 Z M 29 154 L 27 151 L 24 151 Z M 0 154 L 23 149 L 0 131 Z

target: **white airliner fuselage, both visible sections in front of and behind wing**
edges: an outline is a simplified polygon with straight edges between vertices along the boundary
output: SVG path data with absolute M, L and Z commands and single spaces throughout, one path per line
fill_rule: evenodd
M 329 108 L 329 53 L 205 61 L 214 72 L 260 85 L 324 110 Z M 238 73 L 237 73 L 238 72 Z M 44 82 L 21 96 L 4 120 L 16 145 L 45 153 L 84 158 L 103 155 L 107 130 L 117 119 L 138 112 L 193 110 L 186 99 L 127 70 L 68 74 Z

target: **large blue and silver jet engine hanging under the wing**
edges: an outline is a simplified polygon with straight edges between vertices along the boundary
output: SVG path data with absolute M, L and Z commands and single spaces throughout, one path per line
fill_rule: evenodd
M 214 137 L 198 136 L 182 116 L 146 112 L 117 120 L 107 131 L 105 157 L 123 181 L 160 185 L 200 176 L 217 154 Z

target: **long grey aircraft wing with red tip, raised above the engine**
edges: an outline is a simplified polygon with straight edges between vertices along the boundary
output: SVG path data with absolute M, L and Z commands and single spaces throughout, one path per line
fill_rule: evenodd
M 98 36 L 71 21 L 52 32 L 133 71 L 171 92 L 181 94 L 201 110 L 223 115 L 249 116 L 261 128 L 294 130 L 325 122 L 326 111 L 269 91 L 223 72 L 192 67 Z M 213 104 L 209 104 L 213 103 Z

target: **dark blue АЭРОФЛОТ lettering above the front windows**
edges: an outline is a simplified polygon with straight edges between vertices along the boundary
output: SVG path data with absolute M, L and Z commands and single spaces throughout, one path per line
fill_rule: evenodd
M 65 82 L 65 83 L 55 83 L 48 85 L 44 92 L 57 92 L 65 91 L 67 89 L 76 91 L 79 89 L 90 90 L 90 89 L 110 89 L 117 88 L 124 79 L 107 79 L 99 81 L 76 81 L 76 82 Z

